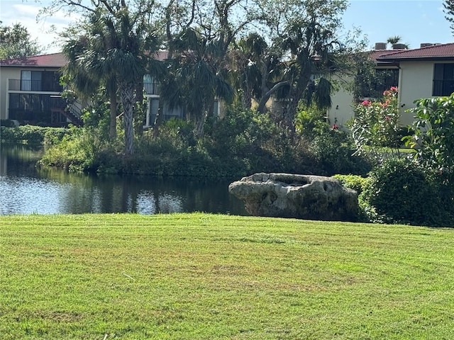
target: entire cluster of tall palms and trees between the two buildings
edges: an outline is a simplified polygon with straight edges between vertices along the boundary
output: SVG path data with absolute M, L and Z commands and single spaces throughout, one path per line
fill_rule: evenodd
M 44 8 L 84 13 L 65 33 L 66 72 L 89 94 L 104 89 L 123 110 L 126 154 L 133 153 L 132 122 L 143 98 L 143 76 L 162 84 L 162 101 L 194 120 L 195 135 L 223 99 L 260 113 L 280 99 L 276 117 L 294 131 L 302 100 L 331 106 L 331 74 L 344 72 L 358 49 L 341 39 L 346 0 L 55 0 Z M 359 47 L 360 48 L 360 47 Z M 165 61 L 154 60 L 167 50 Z M 111 106 L 111 120 L 114 120 Z M 113 125 L 111 125 L 112 128 Z

